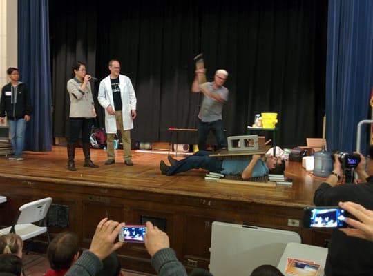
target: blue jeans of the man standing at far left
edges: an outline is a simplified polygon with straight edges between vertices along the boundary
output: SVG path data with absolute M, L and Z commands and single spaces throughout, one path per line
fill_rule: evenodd
M 10 132 L 10 143 L 12 143 L 15 157 L 21 157 L 23 147 L 25 146 L 25 130 L 26 121 L 25 119 L 8 120 L 9 132 Z

